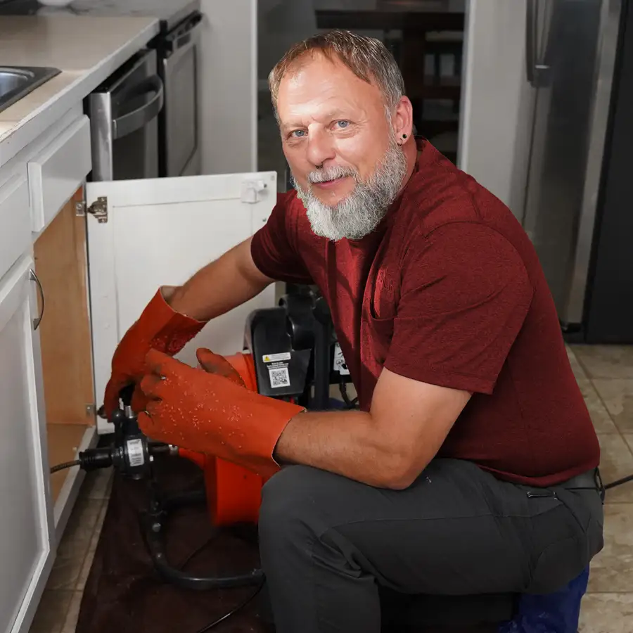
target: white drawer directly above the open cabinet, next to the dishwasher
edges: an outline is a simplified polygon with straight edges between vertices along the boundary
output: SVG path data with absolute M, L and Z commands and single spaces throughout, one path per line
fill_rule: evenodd
M 92 168 L 90 120 L 82 116 L 28 162 L 32 230 L 39 232 L 82 184 Z

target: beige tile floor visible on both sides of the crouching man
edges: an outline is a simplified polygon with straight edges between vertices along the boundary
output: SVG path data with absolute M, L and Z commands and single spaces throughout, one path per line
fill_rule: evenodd
M 633 473 L 633 346 L 568 348 L 602 447 L 604 482 Z M 110 490 L 109 471 L 84 482 L 31 633 L 73 633 Z M 594 558 L 580 633 L 633 631 L 633 482 L 608 492 L 605 547 Z

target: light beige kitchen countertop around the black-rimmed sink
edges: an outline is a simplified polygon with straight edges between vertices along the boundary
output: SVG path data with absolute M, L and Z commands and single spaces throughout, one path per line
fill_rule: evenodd
M 0 17 L 4 66 L 53 66 L 60 74 L 0 112 L 0 166 L 82 101 L 159 32 L 151 17 Z

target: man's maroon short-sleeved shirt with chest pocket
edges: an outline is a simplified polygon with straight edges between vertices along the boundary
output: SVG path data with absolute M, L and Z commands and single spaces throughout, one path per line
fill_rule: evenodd
M 372 234 L 315 236 L 289 191 L 253 238 L 255 264 L 319 287 L 364 411 L 383 367 L 473 393 L 438 456 L 535 485 L 594 468 L 598 440 L 532 243 L 492 193 L 428 141 L 418 150 Z

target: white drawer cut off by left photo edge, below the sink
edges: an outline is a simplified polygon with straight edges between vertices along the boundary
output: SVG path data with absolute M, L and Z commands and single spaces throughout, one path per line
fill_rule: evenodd
M 0 187 L 0 279 L 30 245 L 29 187 L 22 172 Z

